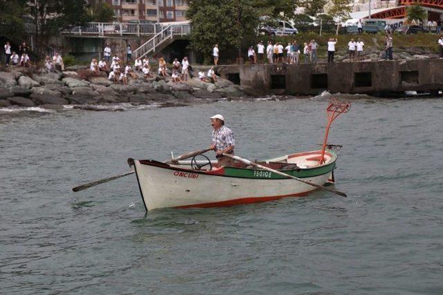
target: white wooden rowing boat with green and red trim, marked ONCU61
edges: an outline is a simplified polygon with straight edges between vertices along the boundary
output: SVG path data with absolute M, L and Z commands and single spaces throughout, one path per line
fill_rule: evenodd
M 336 153 L 327 150 L 324 161 L 320 159 L 322 151 L 309 151 L 258 163 L 314 184 L 333 182 Z M 217 167 L 214 163 L 204 170 L 193 169 L 190 162 L 165 164 L 155 160 L 128 159 L 128 163 L 134 166 L 147 210 L 251 204 L 306 196 L 316 189 L 309 184 L 252 166 Z

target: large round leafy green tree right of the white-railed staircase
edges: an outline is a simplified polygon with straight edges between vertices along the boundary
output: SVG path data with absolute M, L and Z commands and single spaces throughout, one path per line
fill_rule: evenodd
M 190 19 L 191 47 L 210 58 L 214 44 L 221 52 L 235 46 L 241 48 L 248 37 L 255 36 L 259 15 L 254 0 L 192 0 L 186 17 Z

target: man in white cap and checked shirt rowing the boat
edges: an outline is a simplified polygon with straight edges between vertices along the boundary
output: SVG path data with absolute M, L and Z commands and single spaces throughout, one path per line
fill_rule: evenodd
M 232 159 L 221 155 L 222 153 L 234 155 L 235 139 L 233 131 L 224 126 L 222 115 L 210 117 L 210 124 L 214 129 L 210 149 L 215 151 L 215 158 L 217 158 L 219 166 L 235 166 Z

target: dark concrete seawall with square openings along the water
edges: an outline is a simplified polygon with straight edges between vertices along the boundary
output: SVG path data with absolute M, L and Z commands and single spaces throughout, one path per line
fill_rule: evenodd
M 219 66 L 221 76 L 262 95 L 437 92 L 443 89 L 443 59 L 362 61 L 334 64 Z

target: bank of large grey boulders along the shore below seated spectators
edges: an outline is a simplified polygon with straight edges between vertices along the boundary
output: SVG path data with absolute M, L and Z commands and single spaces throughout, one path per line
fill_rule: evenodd
M 66 105 L 100 111 L 97 105 L 156 104 L 159 107 L 186 106 L 195 102 L 219 99 L 247 99 L 242 86 L 218 78 L 215 83 L 197 78 L 174 83 L 170 77 L 129 79 L 127 85 L 111 82 L 105 73 L 94 75 L 84 66 L 71 66 L 63 72 L 33 73 L 28 68 L 8 68 L 0 71 L 0 108 L 17 106 L 61 109 Z

